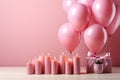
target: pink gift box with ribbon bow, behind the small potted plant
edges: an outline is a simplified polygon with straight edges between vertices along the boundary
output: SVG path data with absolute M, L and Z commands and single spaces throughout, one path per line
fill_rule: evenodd
M 86 70 L 87 73 L 94 73 L 94 64 L 96 59 L 103 61 L 103 73 L 111 73 L 112 72 L 112 58 L 110 56 L 110 53 L 105 53 L 103 55 L 95 55 L 91 52 L 88 52 L 88 56 L 86 57 L 87 64 L 86 64 Z

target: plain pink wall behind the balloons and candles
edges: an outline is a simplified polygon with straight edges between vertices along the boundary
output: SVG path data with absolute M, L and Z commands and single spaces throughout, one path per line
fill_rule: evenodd
M 24 66 L 41 52 L 68 53 L 57 37 L 66 21 L 62 0 L 0 0 L 0 66 Z M 112 36 L 113 66 L 120 66 L 119 35 L 120 29 Z M 73 55 L 77 52 L 84 66 L 87 47 L 83 42 Z

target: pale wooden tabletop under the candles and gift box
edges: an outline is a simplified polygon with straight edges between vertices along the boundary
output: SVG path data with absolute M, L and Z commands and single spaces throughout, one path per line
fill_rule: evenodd
M 25 67 L 0 67 L 0 80 L 120 80 L 120 67 L 113 67 L 112 73 L 80 75 L 27 75 Z

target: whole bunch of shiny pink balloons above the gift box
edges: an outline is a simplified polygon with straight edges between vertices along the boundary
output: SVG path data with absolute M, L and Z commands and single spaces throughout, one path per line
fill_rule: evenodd
M 81 33 L 88 49 L 98 53 L 120 26 L 120 5 L 116 0 L 63 0 L 68 22 L 58 31 L 62 45 L 72 52 L 80 43 Z

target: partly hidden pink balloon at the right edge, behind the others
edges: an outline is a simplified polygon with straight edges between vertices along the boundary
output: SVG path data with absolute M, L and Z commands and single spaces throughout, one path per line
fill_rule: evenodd
M 119 26 L 120 26 L 120 6 L 117 7 L 116 15 L 111 24 L 107 27 L 108 34 L 113 35 Z

